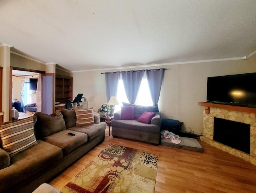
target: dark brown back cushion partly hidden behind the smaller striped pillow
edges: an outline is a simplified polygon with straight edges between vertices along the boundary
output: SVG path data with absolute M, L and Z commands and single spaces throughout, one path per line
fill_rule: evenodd
M 66 128 L 71 128 L 76 126 L 76 109 L 82 109 L 83 105 L 76 106 L 73 108 L 62 109 L 63 118 L 66 124 Z

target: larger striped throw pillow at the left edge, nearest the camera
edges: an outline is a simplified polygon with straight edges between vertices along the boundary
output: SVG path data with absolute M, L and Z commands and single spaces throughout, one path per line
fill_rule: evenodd
M 37 144 L 33 117 L 0 126 L 3 149 L 12 157 Z

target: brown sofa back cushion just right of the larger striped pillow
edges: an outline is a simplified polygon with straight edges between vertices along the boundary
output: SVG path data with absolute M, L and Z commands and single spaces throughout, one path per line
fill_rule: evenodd
M 34 116 L 37 117 L 37 122 L 35 124 L 37 139 L 42 139 L 56 132 L 66 130 L 63 115 L 59 110 L 56 110 L 50 115 L 42 112 L 36 112 Z

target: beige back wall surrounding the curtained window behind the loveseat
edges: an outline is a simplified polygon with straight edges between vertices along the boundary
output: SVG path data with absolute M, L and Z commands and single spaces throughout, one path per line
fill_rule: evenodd
M 189 126 L 195 134 L 203 131 L 203 107 L 206 101 L 207 77 L 256 72 L 256 55 L 246 60 L 162 65 L 154 68 L 170 68 L 164 72 L 164 80 L 158 102 L 162 118 L 177 119 Z M 131 69 L 143 69 L 142 67 Z M 124 69 L 128 70 L 128 69 Z M 109 72 L 110 70 L 106 70 Z M 111 70 L 111 71 L 120 71 Z M 106 101 L 104 71 L 71 73 L 73 96 L 84 93 L 88 107 L 96 111 Z

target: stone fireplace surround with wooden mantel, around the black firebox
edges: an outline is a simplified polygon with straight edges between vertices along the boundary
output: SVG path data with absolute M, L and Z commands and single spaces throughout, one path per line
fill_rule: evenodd
M 224 152 L 228 152 L 229 154 L 232 154 L 238 158 L 242 158 L 243 160 L 249 161 L 250 163 L 256 165 L 256 108 L 230 106 L 207 102 L 199 102 L 198 104 L 204 106 L 204 130 L 203 136 L 200 137 L 200 140 Z M 231 148 L 230 146 L 213 140 L 214 117 L 239 123 L 250 124 L 250 154 L 242 152 L 235 148 Z M 240 143 L 239 136 L 237 143 Z

